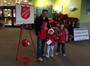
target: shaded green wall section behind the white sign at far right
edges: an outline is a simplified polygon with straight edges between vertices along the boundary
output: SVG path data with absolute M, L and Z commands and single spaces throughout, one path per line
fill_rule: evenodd
M 88 28 L 90 35 L 90 15 L 87 14 L 87 0 L 82 0 L 81 15 L 80 15 L 80 27 Z

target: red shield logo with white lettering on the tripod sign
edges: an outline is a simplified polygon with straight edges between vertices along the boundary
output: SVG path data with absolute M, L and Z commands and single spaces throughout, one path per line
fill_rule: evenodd
M 25 20 L 30 17 L 30 6 L 21 6 L 21 17 Z

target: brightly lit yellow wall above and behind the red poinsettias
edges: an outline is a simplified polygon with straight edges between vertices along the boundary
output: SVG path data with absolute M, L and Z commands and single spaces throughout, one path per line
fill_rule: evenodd
M 78 17 L 80 18 L 80 11 L 81 11 L 81 0 L 33 0 L 35 6 L 43 7 L 52 5 L 53 9 L 55 6 L 63 6 L 63 14 L 68 14 L 71 17 Z M 74 12 L 70 12 L 68 9 L 69 6 L 74 5 L 78 10 Z

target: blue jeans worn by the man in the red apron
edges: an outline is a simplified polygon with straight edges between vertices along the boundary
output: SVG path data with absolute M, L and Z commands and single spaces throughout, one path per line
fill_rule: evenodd
M 45 46 L 44 40 L 37 40 L 37 56 L 38 56 L 38 58 L 42 57 L 42 55 L 44 54 L 44 46 Z

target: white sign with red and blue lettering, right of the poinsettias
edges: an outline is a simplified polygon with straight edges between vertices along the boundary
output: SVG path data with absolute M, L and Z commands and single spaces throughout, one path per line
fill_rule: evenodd
M 87 28 L 74 28 L 74 41 L 88 40 L 89 34 Z

